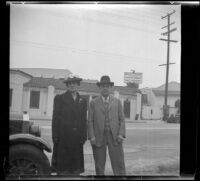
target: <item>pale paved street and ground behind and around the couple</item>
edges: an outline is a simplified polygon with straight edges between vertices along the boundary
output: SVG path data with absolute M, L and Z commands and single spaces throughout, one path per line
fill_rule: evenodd
M 42 128 L 42 137 L 51 146 L 51 122 L 35 121 Z M 124 141 L 125 164 L 128 175 L 178 175 L 180 155 L 180 124 L 161 121 L 126 123 Z M 47 153 L 51 159 L 51 154 Z M 89 141 L 84 145 L 85 173 L 95 175 L 94 161 Z M 112 175 L 107 156 L 106 174 Z

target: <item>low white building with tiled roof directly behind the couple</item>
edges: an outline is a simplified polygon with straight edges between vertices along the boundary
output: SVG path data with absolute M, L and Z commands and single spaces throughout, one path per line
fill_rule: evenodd
M 22 119 L 27 112 L 32 120 L 51 120 L 55 95 L 66 91 L 64 78 L 34 77 L 21 70 L 10 70 L 10 118 Z M 113 86 L 113 95 L 123 105 L 126 120 L 134 121 L 141 111 L 141 93 L 138 89 Z M 94 80 L 84 80 L 79 93 L 87 102 L 99 95 Z M 136 116 L 138 115 L 138 116 Z

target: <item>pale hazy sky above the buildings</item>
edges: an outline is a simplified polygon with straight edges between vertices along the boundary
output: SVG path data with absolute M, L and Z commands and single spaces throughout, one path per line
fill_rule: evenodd
M 165 84 L 170 16 L 169 82 L 180 82 L 180 5 L 12 4 L 10 68 L 68 69 L 84 79 L 109 75 L 125 86 L 124 72 L 143 74 L 140 88 Z

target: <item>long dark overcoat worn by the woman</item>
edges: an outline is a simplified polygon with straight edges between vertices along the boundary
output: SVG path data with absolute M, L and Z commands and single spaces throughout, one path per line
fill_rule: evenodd
M 83 144 L 87 139 L 87 103 L 69 91 L 54 98 L 52 168 L 57 173 L 84 172 Z

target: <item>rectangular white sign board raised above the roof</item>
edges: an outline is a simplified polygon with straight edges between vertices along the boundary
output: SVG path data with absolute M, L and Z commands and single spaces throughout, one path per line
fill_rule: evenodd
M 124 83 L 142 83 L 142 73 L 124 72 Z

